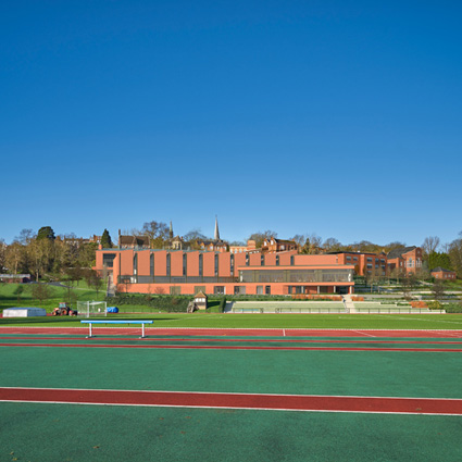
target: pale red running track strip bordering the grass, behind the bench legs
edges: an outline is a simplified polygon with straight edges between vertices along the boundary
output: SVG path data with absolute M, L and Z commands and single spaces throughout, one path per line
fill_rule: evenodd
M 86 335 L 88 327 L 14 327 L 2 326 L 0 334 L 46 334 L 46 335 Z M 96 327 L 95 335 L 137 335 L 139 327 Z M 147 327 L 147 336 L 178 335 L 178 336 L 237 336 L 237 337 L 414 337 L 414 338 L 462 338 L 462 329 L 241 329 L 241 328 L 184 328 L 184 327 Z

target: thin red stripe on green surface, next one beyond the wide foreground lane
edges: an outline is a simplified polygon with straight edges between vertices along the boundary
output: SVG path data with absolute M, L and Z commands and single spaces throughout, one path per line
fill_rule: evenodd
M 158 348 L 190 350 L 287 350 L 287 351 L 388 351 L 388 352 L 435 352 L 462 353 L 455 348 L 380 348 L 380 347 L 263 347 L 237 345 L 110 345 L 110 344 L 0 344 L 0 347 L 46 348 Z

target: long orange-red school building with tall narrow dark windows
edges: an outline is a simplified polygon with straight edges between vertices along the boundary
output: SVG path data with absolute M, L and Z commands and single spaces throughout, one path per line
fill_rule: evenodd
M 353 264 L 338 255 L 297 250 L 208 252 L 201 250 L 99 249 L 96 270 L 112 273 L 118 291 L 193 295 L 352 294 Z

